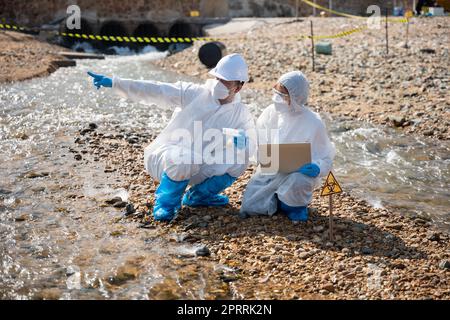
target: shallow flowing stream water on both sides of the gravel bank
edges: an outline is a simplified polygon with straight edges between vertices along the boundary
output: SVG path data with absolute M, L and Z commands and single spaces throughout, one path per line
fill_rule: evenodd
M 150 61 L 164 53 L 78 61 L 47 78 L 0 85 L 0 298 L 208 298 L 221 292 L 209 275 L 225 266 L 193 262 L 196 247 L 158 230 L 117 224 L 122 213 L 102 204 L 126 189 L 101 163 L 83 166 L 69 152 L 87 123 L 159 132 L 168 111 L 95 90 L 88 70 L 134 79 L 198 79 Z M 255 116 L 267 97 L 243 92 Z M 394 130 L 327 119 L 344 189 L 404 214 L 428 215 L 448 230 L 450 145 Z M 170 237 L 177 235 L 168 235 Z M 184 258 L 180 258 L 184 257 Z M 222 290 L 223 291 L 223 290 Z M 222 297 L 232 298 L 224 292 Z

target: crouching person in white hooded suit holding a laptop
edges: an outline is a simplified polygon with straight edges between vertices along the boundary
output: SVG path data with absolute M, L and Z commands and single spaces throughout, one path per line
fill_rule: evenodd
M 335 148 L 320 116 L 306 106 L 309 82 L 301 72 L 284 74 L 273 91 L 273 104 L 256 123 L 260 144 L 311 143 L 312 163 L 289 174 L 262 174 L 258 168 L 245 190 L 241 216 L 273 215 L 281 210 L 293 221 L 306 221 L 312 192 L 319 177 L 331 170 Z

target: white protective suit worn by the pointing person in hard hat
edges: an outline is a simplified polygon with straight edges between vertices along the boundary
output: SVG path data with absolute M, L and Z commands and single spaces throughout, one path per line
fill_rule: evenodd
M 217 152 L 216 149 L 211 155 L 211 145 L 216 142 L 221 145 L 224 138 L 221 135 L 213 139 L 208 136 L 208 129 L 217 129 L 216 132 L 222 132 L 223 128 L 255 130 L 253 117 L 241 103 L 239 93 L 231 103 L 221 105 L 212 95 L 216 83 L 217 80 L 212 79 L 207 80 L 205 84 L 181 81 L 171 84 L 113 78 L 113 91 L 120 96 L 144 104 L 174 109 L 167 127 L 144 151 L 145 169 L 155 180 L 161 181 L 165 172 L 174 181 L 189 180 L 189 184 L 195 185 L 212 176 L 226 173 L 238 177 L 246 169 L 248 149 L 254 149 L 256 146 L 253 139 L 247 146 L 247 152 L 243 151 L 246 154 L 243 163 L 220 163 L 220 160 L 216 163 L 205 162 L 205 159 Z M 223 147 L 224 154 L 234 151 L 234 147 L 230 148 L 229 145 Z M 177 162 L 175 158 L 181 154 L 189 154 L 191 161 Z

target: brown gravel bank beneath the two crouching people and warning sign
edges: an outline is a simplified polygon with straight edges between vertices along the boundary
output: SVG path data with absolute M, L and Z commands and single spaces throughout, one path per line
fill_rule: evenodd
M 316 190 L 306 223 L 293 224 L 281 213 L 242 219 L 242 193 L 253 168 L 226 190 L 227 207 L 183 208 L 173 223 L 154 222 L 149 212 L 157 185 L 142 166 L 143 148 L 153 138 L 120 127 L 103 132 L 93 125 L 81 130 L 72 152 L 80 164 L 102 161 L 105 172 L 121 177 L 117 187 L 129 190 L 130 197 L 128 204 L 117 199 L 109 204 L 124 211 L 117 223 L 139 222 L 142 232 L 151 229 L 168 241 L 203 246 L 194 264 L 207 260 L 232 268 L 228 274 L 211 274 L 223 288 L 208 298 L 450 298 L 449 235 L 426 218 L 375 209 L 343 193 L 335 199 L 336 239 L 330 242 L 328 202 Z M 166 292 L 164 297 L 177 296 Z

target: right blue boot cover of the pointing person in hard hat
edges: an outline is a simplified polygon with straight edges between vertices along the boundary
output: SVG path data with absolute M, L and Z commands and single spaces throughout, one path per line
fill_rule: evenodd
M 218 207 L 228 204 L 228 197 L 219 194 L 236 180 L 225 173 L 223 176 L 213 176 L 190 188 L 183 197 L 183 205 L 190 207 Z

